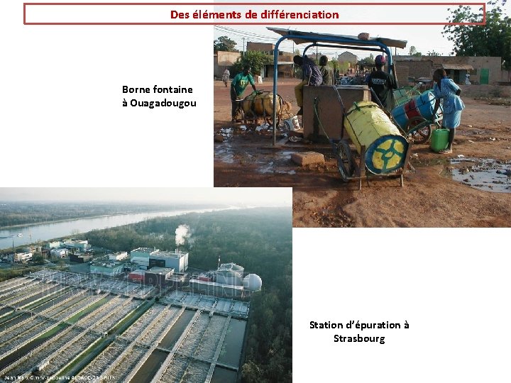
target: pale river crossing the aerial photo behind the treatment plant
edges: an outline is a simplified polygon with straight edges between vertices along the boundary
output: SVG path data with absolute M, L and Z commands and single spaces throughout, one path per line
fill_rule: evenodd
M 227 208 L 238 209 L 238 208 Z M 77 233 L 87 233 L 87 231 L 114 228 L 116 226 L 137 223 L 150 218 L 180 216 L 187 213 L 206 213 L 210 211 L 219 211 L 227 209 L 197 209 L 197 210 L 173 210 L 158 211 L 151 213 L 133 213 L 119 214 L 114 216 L 102 216 L 97 218 L 82 218 L 72 221 L 62 221 L 55 223 L 40 223 L 31 226 L 17 228 L 7 228 L 0 230 L 0 250 L 12 248 L 21 245 L 29 245 L 40 241 L 61 238 Z M 7 237 L 7 238 L 5 238 Z

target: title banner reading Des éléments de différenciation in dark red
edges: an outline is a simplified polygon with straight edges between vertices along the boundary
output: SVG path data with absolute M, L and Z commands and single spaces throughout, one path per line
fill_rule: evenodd
M 457 6 L 480 20 L 451 23 Z M 446 25 L 485 23 L 484 3 L 25 3 L 26 25 Z

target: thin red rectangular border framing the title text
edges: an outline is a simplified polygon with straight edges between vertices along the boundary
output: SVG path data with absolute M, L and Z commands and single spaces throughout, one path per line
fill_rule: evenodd
M 329 6 L 481 6 L 483 21 L 480 23 L 27 23 L 26 6 L 290 6 L 290 5 L 329 5 Z M 26 26 L 276 26 L 276 25 L 335 25 L 335 26 L 483 26 L 486 24 L 486 3 L 23 3 L 23 24 Z

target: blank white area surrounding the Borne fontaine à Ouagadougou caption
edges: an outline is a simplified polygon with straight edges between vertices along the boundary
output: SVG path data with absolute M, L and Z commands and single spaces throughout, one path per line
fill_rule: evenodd
M 213 184 L 209 26 L 24 26 L 2 1 L 1 186 Z M 122 87 L 192 87 L 197 108 L 123 107 Z M 43 179 L 41 179 L 43 178 Z

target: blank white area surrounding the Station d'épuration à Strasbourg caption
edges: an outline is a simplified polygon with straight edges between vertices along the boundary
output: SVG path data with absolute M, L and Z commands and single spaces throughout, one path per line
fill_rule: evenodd
M 510 382 L 508 229 L 293 229 L 297 382 Z M 405 330 L 310 321 L 407 321 Z M 385 336 L 334 343 L 334 335 Z

